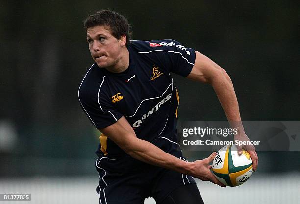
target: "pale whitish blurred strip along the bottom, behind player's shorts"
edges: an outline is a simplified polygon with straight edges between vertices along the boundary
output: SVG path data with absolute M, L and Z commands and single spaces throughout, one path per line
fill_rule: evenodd
M 221 188 L 197 181 L 205 204 L 299 204 L 300 174 L 260 174 L 238 187 Z M 0 179 L 0 192 L 31 193 L 30 204 L 98 204 L 94 177 Z M 122 198 L 120 198 L 122 199 Z M 18 204 L 20 202 L 5 202 Z M 107 200 L 109 204 L 109 200 Z M 147 198 L 144 204 L 155 204 Z

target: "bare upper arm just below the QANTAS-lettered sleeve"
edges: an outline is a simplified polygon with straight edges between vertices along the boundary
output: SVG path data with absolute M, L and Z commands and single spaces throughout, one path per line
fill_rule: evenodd
M 187 78 L 200 81 L 202 83 L 210 83 L 214 77 L 225 72 L 225 70 L 207 56 L 198 51 L 195 51 L 195 53 L 195 63 Z

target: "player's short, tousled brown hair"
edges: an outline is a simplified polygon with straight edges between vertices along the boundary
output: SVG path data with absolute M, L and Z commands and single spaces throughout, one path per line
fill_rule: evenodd
M 126 46 L 130 44 L 131 40 L 131 26 L 127 19 L 121 14 L 112 10 L 101 10 L 89 16 L 83 21 L 85 31 L 90 27 L 95 26 L 110 26 L 112 36 L 120 39 L 122 35 L 126 35 Z

